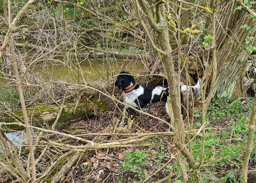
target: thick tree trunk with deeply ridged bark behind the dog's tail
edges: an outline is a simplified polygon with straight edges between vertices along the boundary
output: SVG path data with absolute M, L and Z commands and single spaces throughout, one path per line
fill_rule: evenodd
M 252 18 L 247 17 L 244 10 L 236 10 L 234 1 L 223 2 L 219 7 L 216 29 L 217 43 L 217 79 L 213 95 L 216 97 L 237 98 L 244 95 L 244 83 L 247 58 L 249 52 L 245 47 L 254 45 L 253 39 L 248 45 L 244 44 L 246 37 L 250 36 L 248 30 L 242 25 L 253 25 Z M 223 30 L 224 29 L 224 30 Z M 252 33 L 252 35 L 255 33 Z

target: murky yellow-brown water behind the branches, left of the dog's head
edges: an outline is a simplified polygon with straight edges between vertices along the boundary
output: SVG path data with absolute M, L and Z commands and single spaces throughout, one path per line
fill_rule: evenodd
M 62 80 L 67 82 L 76 82 L 82 79 L 82 74 L 85 81 L 109 80 L 113 75 L 118 74 L 118 71 L 125 70 L 130 73 L 140 73 L 143 71 L 144 65 L 142 61 L 127 61 L 107 63 L 101 60 L 93 62 L 83 62 L 79 65 L 57 65 L 50 64 L 48 66 L 38 66 L 34 69 L 34 73 L 42 76 L 45 81 Z

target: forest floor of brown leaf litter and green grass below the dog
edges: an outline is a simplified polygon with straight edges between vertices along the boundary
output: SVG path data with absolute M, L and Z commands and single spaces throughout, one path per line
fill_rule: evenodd
M 111 102 L 110 102 L 111 103 Z M 167 122 L 164 103 L 155 103 L 144 111 L 158 116 Z M 253 98 L 241 98 L 231 102 L 228 99 L 213 100 L 206 115 L 206 140 L 204 160 L 201 167 L 201 182 L 232 182 L 240 183 L 241 163 L 247 141 L 248 120 L 251 115 Z M 120 108 L 123 107 L 120 105 Z M 196 108 L 194 129 L 201 126 L 200 108 Z M 113 129 L 121 119 L 121 113 L 115 105 L 110 105 L 107 112 L 97 115 L 94 119 L 83 119 L 66 126 L 62 123 L 59 129 L 66 133 L 76 130 L 78 133 L 106 132 Z M 168 131 L 168 126 L 146 115 L 134 118 L 139 127 L 147 132 Z M 112 128 L 109 128 L 112 126 Z M 185 128 L 188 123 L 185 120 Z M 126 133 L 143 132 L 135 126 L 126 126 Z M 109 132 L 109 130 L 108 130 Z M 123 137 L 124 138 L 124 137 Z M 192 138 L 192 137 L 191 137 Z M 99 141 L 108 142 L 122 139 L 121 136 L 99 137 Z M 186 142 L 188 142 L 188 136 Z M 197 163 L 200 161 L 201 137 L 192 138 L 191 150 Z M 144 144 L 144 145 L 143 145 Z M 189 146 L 188 146 L 189 147 Z M 172 137 L 155 137 L 144 141 L 137 147 L 122 147 L 94 150 L 87 153 L 77 166 L 69 171 L 63 180 L 66 182 L 118 182 L 135 183 L 156 182 L 168 175 L 171 177 L 164 182 L 182 182 L 181 170 L 176 159 L 176 148 Z M 190 182 L 193 170 L 188 169 Z M 248 183 L 256 182 L 256 147 L 254 147 L 248 168 Z

